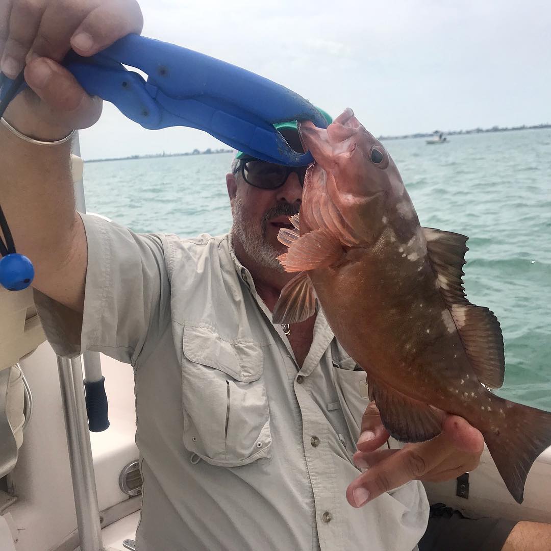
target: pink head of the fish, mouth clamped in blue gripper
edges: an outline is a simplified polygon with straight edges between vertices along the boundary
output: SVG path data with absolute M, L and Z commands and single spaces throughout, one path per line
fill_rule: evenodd
M 299 124 L 300 138 L 315 163 L 306 173 L 302 204 L 327 193 L 344 220 L 361 237 L 379 233 L 382 214 L 393 210 L 405 188 L 387 150 L 345 109 L 327 128 Z M 378 221 L 378 222 L 377 222 Z

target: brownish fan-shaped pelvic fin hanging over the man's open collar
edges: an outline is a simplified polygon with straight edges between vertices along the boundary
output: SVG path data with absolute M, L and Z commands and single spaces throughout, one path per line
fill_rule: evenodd
M 316 311 L 314 285 L 306 272 L 290 280 L 281 290 L 274 306 L 274 323 L 299 323 L 307 320 Z

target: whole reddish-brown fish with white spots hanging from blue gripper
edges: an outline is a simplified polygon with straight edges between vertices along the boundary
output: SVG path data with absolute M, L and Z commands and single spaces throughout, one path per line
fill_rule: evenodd
M 314 158 L 300 212 L 282 228 L 278 257 L 297 272 L 274 323 L 298 323 L 321 307 L 334 335 L 366 371 L 381 421 L 402 442 L 440 434 L 445 413 L 484 436 L 512 497 L 551 445 L 551 413 L 495 395 L 505 376 L 494 312 L 463 287 L 465 235 L 420 225 L 396 164 L 346 109 L 326 129 L 299 123 Z

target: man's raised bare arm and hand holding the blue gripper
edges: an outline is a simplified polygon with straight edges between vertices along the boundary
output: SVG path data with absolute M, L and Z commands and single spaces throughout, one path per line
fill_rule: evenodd
M 26 62 L 29 85 L 5 120 L 47 142 L 93 125 L 101 100 L 90 98 L 58 62 L 70 48 L 90 56 L 142 25 L 134 0 L 0 0 L 0 67 L 15 78 Z M 0 125 L 0 204 L 18 252 L 33 261 L 33 286 L 82 311 L 88 253 L 74 207 L 70 148 L 70 142 L 30 143 Z

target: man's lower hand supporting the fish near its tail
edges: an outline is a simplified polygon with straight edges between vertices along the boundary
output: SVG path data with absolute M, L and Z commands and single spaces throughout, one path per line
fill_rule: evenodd
M 406 444 L 401 450 L 379 450 L 388 437 L 379 410 L 371 402 L 362 418 L 358 451 L 354 453 L 356 466 L 368 470 L 347 489 L 348 503 L 353 507 L 361 507 L 410 480 L 457 478 L 478 466 L 484 450 L 482 434 L 456 415 L 447 415 L 442 432 L 426 442 Z

